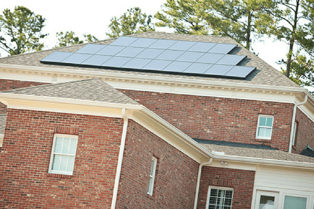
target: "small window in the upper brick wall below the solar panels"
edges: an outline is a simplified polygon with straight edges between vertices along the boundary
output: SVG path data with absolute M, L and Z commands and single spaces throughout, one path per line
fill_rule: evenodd
M 259 115 L 256 139 L 271 139 L 274 116 Z

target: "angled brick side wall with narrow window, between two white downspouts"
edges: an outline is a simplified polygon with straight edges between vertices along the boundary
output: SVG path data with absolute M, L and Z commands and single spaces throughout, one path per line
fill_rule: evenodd
M 153 196 L 147 194 L 152 157 L 157 158 Z M 192 209 L 198 165 L 185 154 L 130 121 L 117 208 Z

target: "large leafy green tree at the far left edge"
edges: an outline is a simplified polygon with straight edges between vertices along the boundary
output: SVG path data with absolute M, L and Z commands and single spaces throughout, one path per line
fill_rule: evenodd
M 13 12 L 4 9 L 0 16 L 0 47 L 10 55 L 41 50 L 44 45 L 40 39 L 48 35 L 41 33 L 45 21 L 23 6 L 15 7 Z

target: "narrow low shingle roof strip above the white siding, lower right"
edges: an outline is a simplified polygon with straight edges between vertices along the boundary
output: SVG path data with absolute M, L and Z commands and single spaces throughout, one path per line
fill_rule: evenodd
M 216 152 L 224 152 L 225 155 L 237 157 L 260 158 L 290 162 L 314 163 L 314 158 L 298 154 L 288 153 L 280 150 L 254 149 L 246 147 L 223 146 L 216 144 L 200 143 L 206 149 Z

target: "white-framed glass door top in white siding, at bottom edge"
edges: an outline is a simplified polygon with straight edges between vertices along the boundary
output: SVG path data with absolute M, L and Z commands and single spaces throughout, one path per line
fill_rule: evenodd
M 256 191 L 255 209 L 277 209 L 279 192 Z

